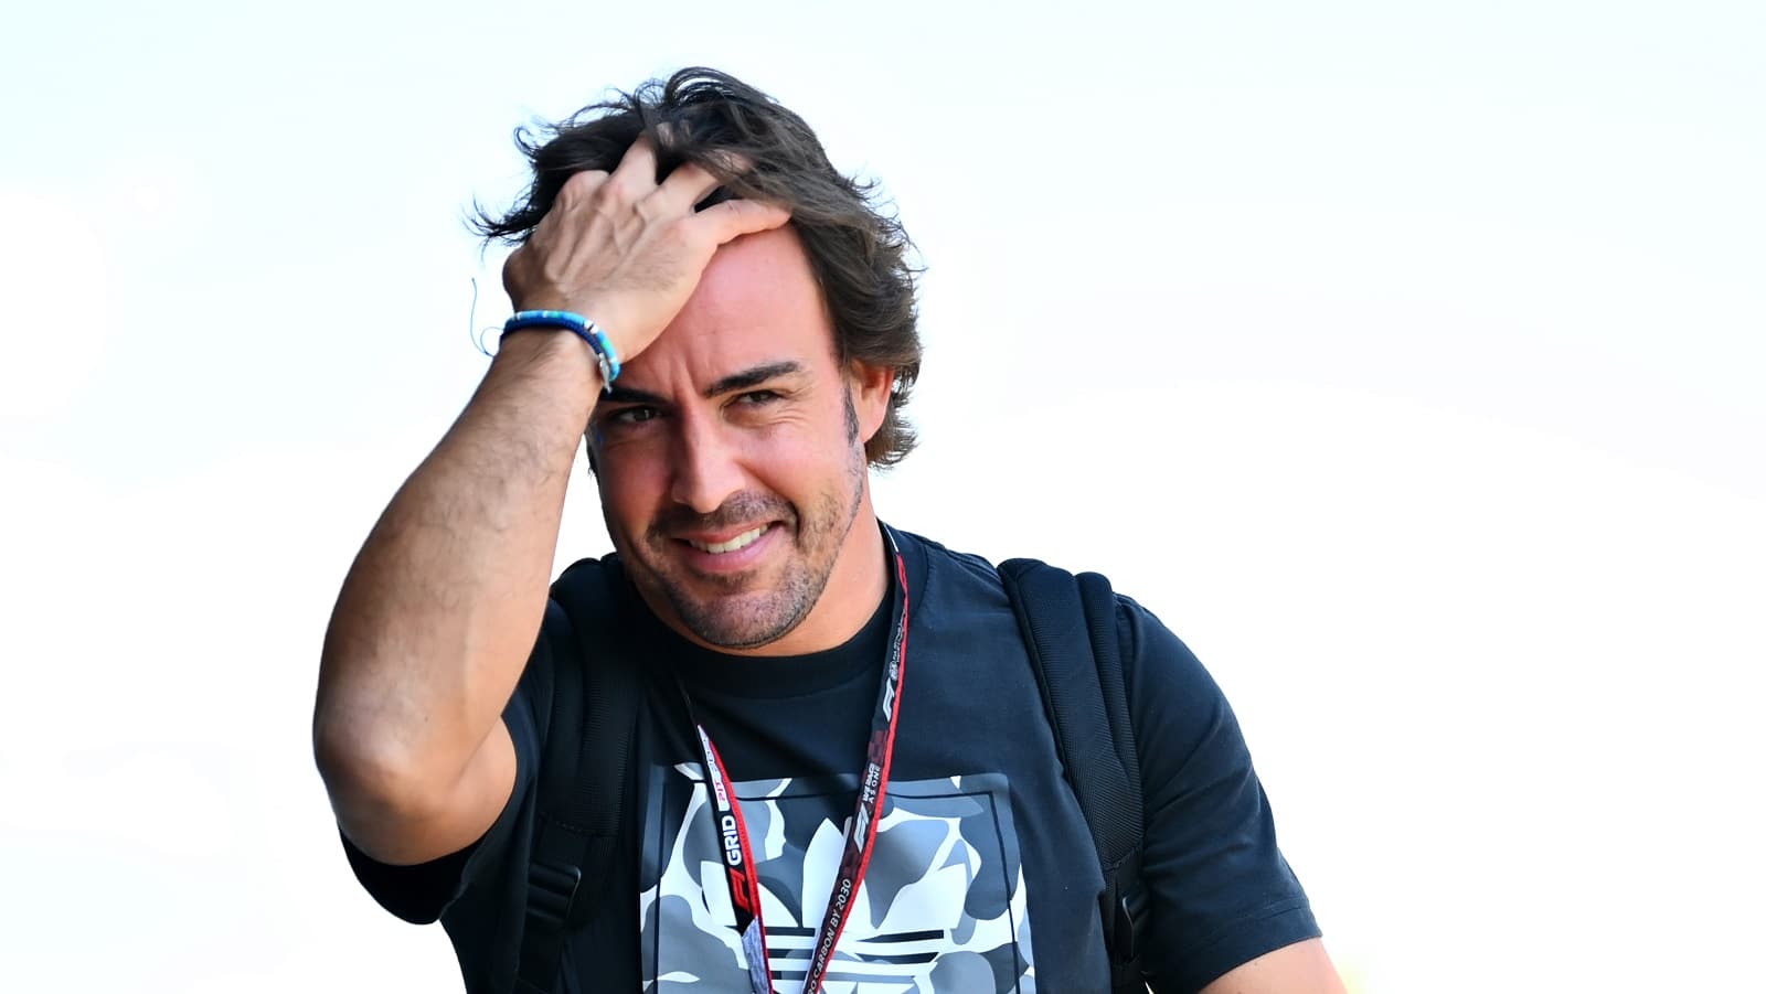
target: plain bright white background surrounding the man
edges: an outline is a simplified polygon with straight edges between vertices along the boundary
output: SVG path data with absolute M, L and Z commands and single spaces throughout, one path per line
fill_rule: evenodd
M 1358 994 L 1748 989 L 1757 4 L 64 4 L 0 41 L 0 987 L 454 990 L 337 583 L 507 316 L 510 127 L 683 64 L 918 242 L 881 514 L 1210 664 Z M 608 544 L 586 475 L 560 558 Z

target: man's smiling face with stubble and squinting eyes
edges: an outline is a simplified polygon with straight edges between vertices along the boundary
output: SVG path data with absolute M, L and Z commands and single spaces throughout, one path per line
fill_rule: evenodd
M 666 621 L 747 650 L 816 606 L 869 507 L 864 438 L 888 390 L 887 371 L 848 373 L 789 226 L 719 249 L 620 373 L 590 431 L 602 514 Z

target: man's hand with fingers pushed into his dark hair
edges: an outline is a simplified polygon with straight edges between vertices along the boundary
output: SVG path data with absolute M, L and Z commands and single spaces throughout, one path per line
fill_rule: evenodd
M 662 334 L 719 245 L 779 228 L 782 207 L 726 200 L 696 212 L 721 180 L 685 162 L 657 184 L 655 148 L 639 138 L 613 173 L 565 180 L 533 235 L 503 265 L 516 311 L 572 311 L 600 325 L 620 362 Z

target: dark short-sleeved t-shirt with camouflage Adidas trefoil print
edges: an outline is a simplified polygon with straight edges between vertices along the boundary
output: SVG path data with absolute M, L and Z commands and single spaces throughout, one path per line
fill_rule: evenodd
M 1097 851 L 1000 577 L 984 560 L 895 535 L 913 604 L 895 756 L 825 990 L 1106 990 Z M 678 680 L 735 782 L 759 863 L 768 966 L 777 990 L 795 992 L 853 814 L 890 599 L 844 646 L 788 659 L 703 650 L 629 602 L 648 676 L 630 830 L 615 879 L 585 881 L 609 899 L 570 936 L 558 989 L 749 994 Z M 378 863 L 344 840 L 381 906 L 442 920 L 473 994 L 509 990 L 516 969 L 539 715 L 549 713 L 539 697 L 551 680 L 539 674 L 581 664 L 560 616 L 547 613 L 503 712 L 517 773 L 496 825 L 419 867 Z M 1151 613 L 1121 599 L 1118 618 L 1146 794 L 1137 948 L 1155 990 L 1196 990 L 1319 932 L 1219 687 Z

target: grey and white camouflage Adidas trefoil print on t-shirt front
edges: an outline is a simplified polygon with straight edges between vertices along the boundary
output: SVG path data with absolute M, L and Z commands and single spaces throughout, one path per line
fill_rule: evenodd
M 738 782 L 759 860 L 768 971 L 798 994 L 858 779 Z M 653 768 L 639 886 L 645 990 L 752 994 L 698 763 Z M 888 786 L 826 994 L 1035 994 L 1005 775 Z

